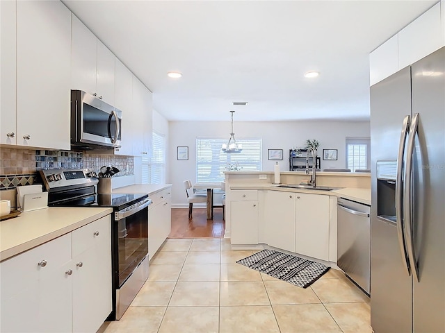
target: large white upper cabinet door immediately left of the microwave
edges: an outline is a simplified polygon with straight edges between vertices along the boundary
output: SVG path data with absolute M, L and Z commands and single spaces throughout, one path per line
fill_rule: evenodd
M 70 149 L 70 51 L 63 3 L 17 1 L 17 145 Z

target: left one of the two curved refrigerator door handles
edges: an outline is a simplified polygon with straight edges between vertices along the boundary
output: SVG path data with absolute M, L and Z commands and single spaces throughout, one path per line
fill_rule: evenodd
M 397 237 L 398 246 L 401 250 L 402 262 L 408 275 L 411 275 L 410 262 L 407 255 L 406 241 L 403 230 L 405 229 L 403 216 L 403 162 L 405 161 L 405 144 L 408 135 L 408 129 L 410 128 L 410 116 L 406 116 L 403 119 L 401 139 L 398 144 L 398 156 L 397 156 L 397 176 L 396 176 L 396 223 L 397 223 Z

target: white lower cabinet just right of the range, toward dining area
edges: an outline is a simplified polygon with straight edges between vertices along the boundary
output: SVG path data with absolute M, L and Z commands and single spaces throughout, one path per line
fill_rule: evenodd
M 152 205 L 148 206 L 148 253 L 152 259 L 172 230 L 171 188 L 149 198 Z

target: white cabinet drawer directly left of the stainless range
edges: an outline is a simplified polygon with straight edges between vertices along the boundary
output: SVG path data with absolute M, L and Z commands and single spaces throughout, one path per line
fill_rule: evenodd
M 84 225 L 72 232 L 72 257 L 95 246 L 102 241 L 111 239 L 111 216 Z

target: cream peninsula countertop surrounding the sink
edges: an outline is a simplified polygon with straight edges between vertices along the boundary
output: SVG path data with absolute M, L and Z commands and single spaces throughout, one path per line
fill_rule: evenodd
M 289 191 L 289 192 L 300 192 L 309 194 L 323 194 L 330 196 L 337 196 L 341 198 L 346 198 L 350 200 L 355 200 L 359 203 L 364 203 L 365 205 L 371 205 L 371 189 L 355 189 L 352 187 L 345 187 L 343 189 L 337 189 L 334 191 L 322 191 L 322 190 L 311 190 L 311 189 L 292 189 L 289 187 L 277 187 L 270 183 L 259 183 L 259 184 L 231 184 L 230 189 L 271 189 L 273 191 Z

